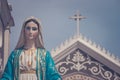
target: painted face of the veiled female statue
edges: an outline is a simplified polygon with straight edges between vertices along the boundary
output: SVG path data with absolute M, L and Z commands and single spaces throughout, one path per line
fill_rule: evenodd
M 38 37 L 38 26 L 33 21 L 28 22 L 25 26 L 25 39 L 35 40 Z

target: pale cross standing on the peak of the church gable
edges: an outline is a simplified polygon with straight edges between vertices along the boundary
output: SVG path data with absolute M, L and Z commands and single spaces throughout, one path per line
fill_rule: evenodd
M 70 17 L 70 19 L 74 19 L 75 21 L 77 21 L 77 35 L 80 34 L 80 32 L 79 32 L 79 29 L 80 29 L 80 20 L 81 19 L 85 19 L 85 18 L 86 17 L 80 15 L 79 11 L 77 11 L 77 13 L 74 16 Z

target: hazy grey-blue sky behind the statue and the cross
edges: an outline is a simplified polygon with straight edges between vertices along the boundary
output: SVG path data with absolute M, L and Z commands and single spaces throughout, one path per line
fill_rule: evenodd
M 120 0 L 8 0 L 15 26 L 11 28 L 10 51 L 19 38 L 22 23 L 35 16 L 42 23 L 47 50 L 51 51 L 76 34 L 76 22 L 69 19 L 79 11 L 80 33 L 120 57 Z

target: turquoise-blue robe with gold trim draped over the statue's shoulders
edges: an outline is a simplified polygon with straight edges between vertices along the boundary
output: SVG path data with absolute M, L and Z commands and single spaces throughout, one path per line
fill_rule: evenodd
M 19 80 L 19 56 L 23 48 L 12 51 L 0 80 Z M 36 53 L 36 75 L 38 80 L 62 80 L 50 52 L 38 48 Z

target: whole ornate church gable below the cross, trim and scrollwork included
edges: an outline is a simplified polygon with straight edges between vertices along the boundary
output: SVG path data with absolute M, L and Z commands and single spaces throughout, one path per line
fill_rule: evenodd
M 51 53 L 63 80 L 120 80 L 120 59 L 82 35 Z

